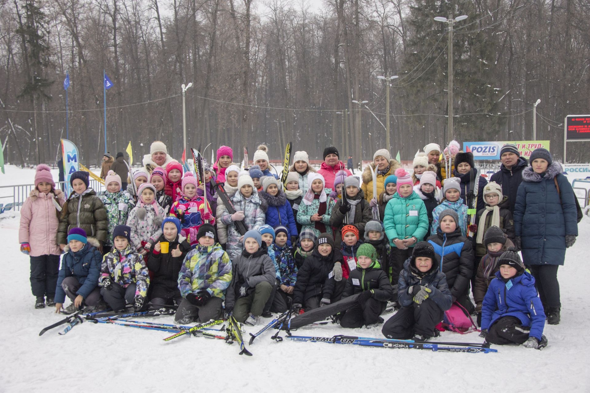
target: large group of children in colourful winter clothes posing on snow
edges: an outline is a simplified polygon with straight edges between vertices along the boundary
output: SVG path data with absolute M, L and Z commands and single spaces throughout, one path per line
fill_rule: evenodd
M 369 201 L 358 177 L 344 171 L 327 188 L 305 152 L 294 154 L 284 187 L 268 170 L 266 147 L 254 157 L 256 165 L 240 171 L 231 148 L 220 147 L 201 184 L 175 161 L 152 173 L 135 171 L 126 190 L 109 171 L 99 195 L 88 173 L 78 171 L 67 200 L 48 167 L 38 166 L 19 233 L 21 250 L 31 256 L 35 307 L 47 302 L 62 311 L 67 295 L 73 302 L 65 312 L 176 304 L 178 323 L 232 313 L 256 325 L 273 312 L 309 311 L 360 293 L 358 305 L 339 316 L 342 326 L 383 323 L 392 301 L 399 311 L 383 334 L 429 339 L 454 302 L 473 308 L 473 280 L 489 342 L 546 344 L 543 309 L 531 297 L 534 279 L 511 248 L 512 213 L 497 184 L 482 187 L 485 206 L 477 226 L 468 226 L 461 180 L 445 179 L 441 190 L 422 156 L 413 175 L 397 168 L 383 176 L 383 191 Z M 234 213 L 216 194 L 220 179 Z M 518 295 L 497 292 L 498 282 Z M 506 301 L 522 305 L 520 313 Z M 530 337 L 514 333 L 527 328 Z

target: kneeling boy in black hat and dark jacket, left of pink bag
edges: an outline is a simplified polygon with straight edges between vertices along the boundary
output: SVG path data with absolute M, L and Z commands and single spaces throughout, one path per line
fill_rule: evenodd
M 443 313 L 451 308 L 452 300 L 445 274 L 438 269 L 434 247 L 419 242 L 399 274 L 398 303 L 402 308 L 385 322 L 381 332 L 388 338 L 413 336 L 414 341 L 428 340 Z

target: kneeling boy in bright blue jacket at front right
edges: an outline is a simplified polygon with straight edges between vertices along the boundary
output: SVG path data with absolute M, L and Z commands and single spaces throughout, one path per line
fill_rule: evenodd
M 500 271 L 483 299 L 480 336 L 490 344 L 545 348 L 545 312 L 535 289 L 535 278 L 526 272 L 514 247 L 500 256 L 498 265 Z

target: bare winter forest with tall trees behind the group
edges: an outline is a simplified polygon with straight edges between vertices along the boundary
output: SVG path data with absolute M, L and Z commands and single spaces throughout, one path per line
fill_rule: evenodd
M 260 1 L 260 4 L 258 3 Z M 563 118 L 590 111 L 588 0 L 0 0 L 0 140 L 8 163 L 52 162 L 69 137 L 84 160 L 107 150 L 182 154 L 266 143 L 322 158 L 325 146 L 371 159 L 385 147 L 391 81 L 392 156 L 446 144 L 447 24 L 454 24 L 454 138 L 537 139 L 563 155 Z M 356 101 L 368 101 L 360 106 Z M 343 138 L 343 136 L 345 136 Z M 347 150 L 348 144 L 348 150 Z M 588 162 L 588 143 L 568 161 Z

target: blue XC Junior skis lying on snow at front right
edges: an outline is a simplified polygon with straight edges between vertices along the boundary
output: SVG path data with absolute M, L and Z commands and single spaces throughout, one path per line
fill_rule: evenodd
M 498 352 L 497 349 L 491 349 L 483 344 L 463 343 L 463 342 L 430 342 L 414 340 L 396 340 L 389 338 L 371 338 L 337 335 L 332 337 L 317 336 L 289 336 L 293 341 L 307 342 L 326 342 L 328 344 L 351 344 L 360 346 L 376 346 L 378 348 L 391 349 L 425 349 L 433 352 L 467 352 L 469 354 L 489 354 Z

